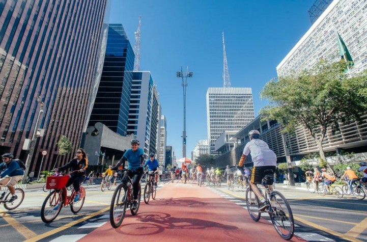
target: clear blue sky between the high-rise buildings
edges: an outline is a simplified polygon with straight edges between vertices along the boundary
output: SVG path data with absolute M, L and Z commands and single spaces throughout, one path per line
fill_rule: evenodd
M 167 119 L 167 145 L 182 157 L 183 91 L 176 71 L 189 67 L 186 89 L 186 156 L 207 139 L 206 93 L 223 86 L 223 46 L 232 87 L 252 88 L 255 116 L 267 104 L 264 85 L 310 28 L 314 1 L 112 0 L 110 23 L 122 23 L 134 45 L 142 15 L 140 70 L 151 71 Z

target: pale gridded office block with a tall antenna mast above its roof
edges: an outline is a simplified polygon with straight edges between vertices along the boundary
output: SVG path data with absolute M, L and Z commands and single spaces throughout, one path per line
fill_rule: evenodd
M 209 153 L 224 131 L 240 130 L 255 118 L 251 88 L 209 88 L 207 91 Z

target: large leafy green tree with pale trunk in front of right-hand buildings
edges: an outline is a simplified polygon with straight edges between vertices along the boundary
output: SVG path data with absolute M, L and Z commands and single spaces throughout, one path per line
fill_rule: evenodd
M 320 61 L 311 70 L 270 80 L 261 91 L 261 98 L 270 101 L 260 111 L 262 119 L 277 120 L 290 134 L 304 126 L 326 160 L 322 142 L 327 129 L 336 131 L 340 123 L 361 121 L 367 107 L 367 70 L 350 77 L 347 67 L 344 61 Z

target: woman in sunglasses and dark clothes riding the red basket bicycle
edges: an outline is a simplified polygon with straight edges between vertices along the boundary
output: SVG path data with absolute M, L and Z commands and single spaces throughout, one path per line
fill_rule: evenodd
M 69 187 L 73 184 L 75 190 L 74 202 L 77 202 L 80 198 L 79 190 L 80 184 L 86 179 L 86 169 L 88 168 L 88 158 L 86 151 L 84 149 L 77 149 L 76 156 L 70 160 L 68 164 L 65 166 L 54 169 L 54 171 L 64 171 L 68 168 L 71 168 L 71 171 L 79 171 L 69 175 L 69 180 L 66 183 L 66 187 Z

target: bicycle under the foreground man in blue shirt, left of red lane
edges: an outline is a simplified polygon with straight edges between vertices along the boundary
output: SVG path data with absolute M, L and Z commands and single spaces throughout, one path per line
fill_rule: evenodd
M 142 195 L 142 189 L 140 187 L 139 181 L 139 192 L 137 195 L 137 206 L 136 208 L 132 207 L 134 197 L 133 197 L 133 181 L 130 178 L 130 174 L 135 172 L 134 170 L 125 170 L 123 172 L 123 177 L 127 177 L 127 179 L 123 179 L 122 183 L 120 183 L 112 195 L 111 204 L 109 207 L 109 222 L 112 227 L 118 228 L 122 221 L 125 218 L 126 209 L 130 206 L 130 212 L 132 215 L 135 215 L 140 206 L 140 197 Z

